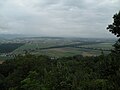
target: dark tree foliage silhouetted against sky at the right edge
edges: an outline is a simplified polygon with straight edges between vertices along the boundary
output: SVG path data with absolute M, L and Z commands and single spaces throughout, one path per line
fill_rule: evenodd
M 120 11 L 113 16 L 113 24 L 108 25 L 107 29 L 117 37 L 120 37 Z M 120 38 L 114 44 L 114 47 L 113 51 L 120 54 Z

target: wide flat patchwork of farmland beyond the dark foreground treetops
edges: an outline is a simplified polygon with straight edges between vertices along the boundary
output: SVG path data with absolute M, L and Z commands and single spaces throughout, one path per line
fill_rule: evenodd
M 48 55 L 51 57 L 66 57 L 73 55 L 97 56 L 103 51 L 109 53 L 115 40 L 110 39 L 84 39 L 84 38 L 17 38 L 8 40 L 1 52 L 0 59 L 7 59 L 14 55 L 24 54 L 26 51 L 35 55 Z

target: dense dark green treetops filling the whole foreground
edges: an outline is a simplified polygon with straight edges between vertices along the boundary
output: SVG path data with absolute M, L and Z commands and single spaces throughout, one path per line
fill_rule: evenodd
M 120 90 L 120 55 L 18 55 L 0 65 L 0 90 Z

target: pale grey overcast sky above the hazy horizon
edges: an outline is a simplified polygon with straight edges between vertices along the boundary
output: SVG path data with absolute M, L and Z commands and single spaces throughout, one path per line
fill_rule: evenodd
M 119 10 L 120 0 L 0 0 L 0 34 L 111 38 Z

